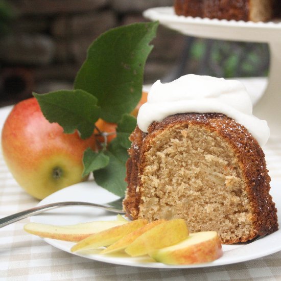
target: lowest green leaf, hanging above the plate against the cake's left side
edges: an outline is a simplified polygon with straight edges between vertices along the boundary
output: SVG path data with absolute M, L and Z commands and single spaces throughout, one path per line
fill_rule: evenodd
M 105 151 L 104 153 L 109 157 L 109 163 L 104 169 L 93 172 L 95 180 L 104 189 L 122 197 L 125 195 L 127 188 L 127 183 L 125 182 L 126 166 L 123 161 L 120 161 L 110 151 Z

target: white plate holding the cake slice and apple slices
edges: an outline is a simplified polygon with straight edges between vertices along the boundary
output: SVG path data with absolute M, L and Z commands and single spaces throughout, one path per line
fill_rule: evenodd
M 281 197 L 278 195 L 281 182 L 273 182 L 271 184 L 271 195 L 276 203 L 276 207 L 281 210 Z M 88 181 L 78 183 L 60 190 L 45 199 L 43 199 L 38 205 L 58 202 L 58 201 L 92 201 L 96 203 L 105 203 L 117 199 L 115 195 L 100 188 L 95 182 Z M 281 217 L 279 212 L 279 217 Z M 109 214 L 104 210 L 99 210 L 92 207 L 63 207 L 50 212 L 37 215 L 31 218 L 32 222 L 55 224 L 55 225 L 67 225 L 76 224 L 81 222 L 87 222 L 92 220 L 115 220 L 115 214 Z M 281 225 L 279 219 L 279 225 Z M 55 239 L 44 239 L 47 243 L 59 248 L 63 251 L 71 253 L 70 249 L 75 244 L 72 242 L 59 241 Z M 99 255 L 99 254 L 82 254 L 73 253 L 74 255 L 84 256 L 87 259 L 127 265 L 136 267 L 149 267 L 149 268 L 198 268 L 209 266 L 220 266 L 239 262 L 245 262 L 252 259 L 257 259 L 268 254 L 275 253 L 281 250 L 281 230 L 278 230 L 271 235 L 263 237 L 248 244 L 236 244 L 236 245 L 223 245 L 223 256 L 220 259 L 205 264 L 198 265 L 183 265 L 183 266 L 170 266 L 162 263 L 156 263 L 149 257 L 133 258 L 124 254 L 124 256 L 117 255 Z

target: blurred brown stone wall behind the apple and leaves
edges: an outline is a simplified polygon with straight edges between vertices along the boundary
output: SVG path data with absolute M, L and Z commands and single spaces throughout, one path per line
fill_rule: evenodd
M 173 0 L 9 0 L 16 11 L 0 40 L 1 105 L 51 90 L 72 88 L 89 44 L 106 30 L 147 21 L 144 10 Z M 184 36 L 159 27 L 145 83 L 165 77 L 179 58 Z

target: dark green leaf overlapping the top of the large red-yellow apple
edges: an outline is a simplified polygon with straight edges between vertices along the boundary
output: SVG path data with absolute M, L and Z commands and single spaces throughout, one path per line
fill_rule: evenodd
M 91 136 L 101 109 L 97 98 L 83 90 L 59 90 L 44 94 L 33 93 L 49 122 L 57 122 L 65 133 L 76 129 L 82 138 Z

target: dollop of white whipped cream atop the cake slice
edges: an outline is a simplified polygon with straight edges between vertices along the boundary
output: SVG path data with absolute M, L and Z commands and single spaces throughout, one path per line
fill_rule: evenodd
M 188 74 L 170 83 L 156 81 L 137 115 L 137 125 L 147 132 L 153 121 L 176 113 L 223 113 L 242 124 L 259 142 L 269 138 L 267 122 L 252 114 L 252 101 L 240 81 Z

